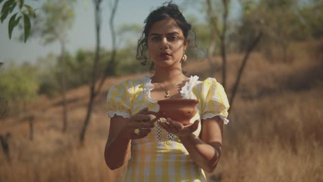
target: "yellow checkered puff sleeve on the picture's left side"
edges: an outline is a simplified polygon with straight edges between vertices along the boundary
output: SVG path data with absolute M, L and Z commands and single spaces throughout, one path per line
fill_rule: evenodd
M 111 86 L 106 99 L 106 108 L 109 117 L 118 115 L 129 118 L 131 116 L 132 98 L 130 90 L 133 84 L 130 82 L 130 80 L 126 80 Z

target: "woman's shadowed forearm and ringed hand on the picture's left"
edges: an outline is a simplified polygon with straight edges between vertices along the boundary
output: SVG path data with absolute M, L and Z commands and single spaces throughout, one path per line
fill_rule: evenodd
M 150 117 L 144 114 L 147 109 L 141 110 L 138 114 L 125 119 L 124 117 L 115 116 L 110 119 L 110 129 L 106 148 L 104 150 L 104 159 L 106 165 L 111 170 L 120 168 L 129 159 L 130 143 L 133 139 L 141 139 L 148 135 L 150 128 L 154 127 Z M 141 122 L 144 121 L 144 122 Z M 139 134 L 134 130 L 140 129 Z

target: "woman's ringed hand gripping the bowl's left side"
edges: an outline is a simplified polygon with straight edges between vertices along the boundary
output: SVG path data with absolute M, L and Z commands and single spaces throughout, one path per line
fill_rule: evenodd
M 129 122 L 122 128 L 121 134 L 127 139 L 142 139 L 146 137 L 151 128 L 154 128 L 154 120 L 148 116 L 148 108 L 140 110 L 130 117 Z

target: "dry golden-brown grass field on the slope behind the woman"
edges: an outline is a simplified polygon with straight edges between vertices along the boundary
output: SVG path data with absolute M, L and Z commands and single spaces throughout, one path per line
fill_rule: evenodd
M 323 181 L 323 59 L 310 49 L 292 50 L 293 60 L 287 63 L 251 55 L 225 126 L 222 159 L 208 174 L 209 181 Z M 229 97 L 241 59 L 238 54 L 228 57 Z M 209 76 L 207 61 L 190 63 L 186 70 Z M 221 81 L 218 72 L 213 77 Z M 0 152 L 0 181 L 120 181 L 124 168 L 108 170 L 103 152 L 109 127 L 106 93 L 122 79 L 107 79 L 83 146 L 79 132 L 86 115 L 86 86 L 68 92 L 65 134 L 59 98 L 41 98 L 28 104 L 27 112 L 0 120 L 0 133 L 11 133 L 10 156 Z M 35 116 L 32 141 L 30 115 Z

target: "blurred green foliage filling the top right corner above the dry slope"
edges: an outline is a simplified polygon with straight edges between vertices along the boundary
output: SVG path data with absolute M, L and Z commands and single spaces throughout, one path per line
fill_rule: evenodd
M 257 32 L 262 32 L 260 50 L 268 59 L 279 50 L 282 59 L 288 58 L 293 41 L 322 37 L 323 1 L 300 0 L 240 0 L 242 16 L 234 38 L 237 50 L 244 50 Z

